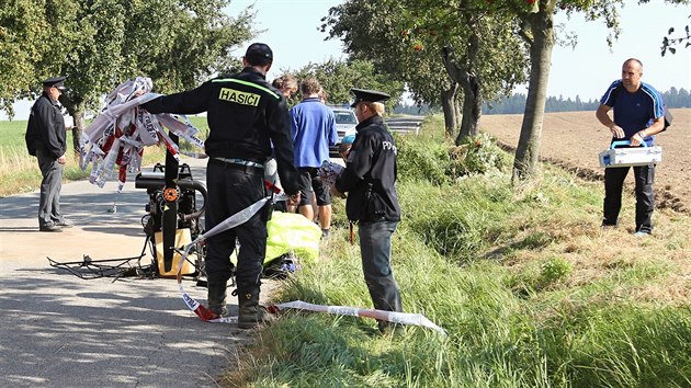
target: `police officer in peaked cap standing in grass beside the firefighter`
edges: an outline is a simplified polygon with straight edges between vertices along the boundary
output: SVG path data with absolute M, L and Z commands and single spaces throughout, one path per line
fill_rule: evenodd
M 365 283 L 374 308 L 403 311 L 400 293 L 390 266 L 392 235 L 400 220 L 396 195 L 396 146 L 382 115 L 389 95 L 373 90 L 352 89 L 360 124 L 332 192 L 348 192 L 346 212 L 351 222 L 359 221 L 360 253 Z M 390 323 L 380 321 L 382 332 Z

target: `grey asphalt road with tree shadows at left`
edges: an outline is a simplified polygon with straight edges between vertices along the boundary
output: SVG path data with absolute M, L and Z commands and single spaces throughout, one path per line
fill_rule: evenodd
M 205 162 L 190 164 L 204 180 Z M 148 197 L 133 181 L 120 194 L 112 181 L 65 184 L 61 209 L 76 226 L 63 232 L 38 231 L 37 193 L 0 198 L 0 387 L 213 387 L 236 364 L 251 331 L 201 321 L 175 281 L 81 279 L 48 264 L 138 256 Z M 205 303 L 206 288 L 184 286 Z

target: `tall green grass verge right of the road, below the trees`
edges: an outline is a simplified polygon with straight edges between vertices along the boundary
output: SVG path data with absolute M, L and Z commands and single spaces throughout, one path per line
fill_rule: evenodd
M 420 144 L 448 147 L 440 130 Z M 398 146 L 406 158 L 415 144 Z M 600 230 L 600 183 L 548 166 L 520 187 L 505 170 L 440 170 L 401 176 L 392 261 L 404 309 L 448 335 L 408 327 L 383 336 L 369 319 L 288 312 L 260 331 L 228 386 L 691 385 L 690 217 L 656 212 L 656 235 L 641 240 Z M 622 222 L 633 222 L 633 206 L 626 197 Z M 342 203 L 333 209 L 321 260 L 277 300 L 372 306 Z

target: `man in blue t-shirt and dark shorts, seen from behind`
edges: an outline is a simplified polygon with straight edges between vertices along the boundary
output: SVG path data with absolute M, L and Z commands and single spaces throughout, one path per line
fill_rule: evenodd
M 336 117 L 330 107 L 319 101 L 321 85 L 315 78 L 301 82 L 303 101 L 291 109 L 295 167 L 299 171 L 299 213 L 314 219 L 311 198 L 316 195 L 319 226 L 322 237 L 329 236 L 331 225 L 331 195 L 329 187 L 321 184 L 317 170 L 329 160 L 329 146 L 338 140 Z

